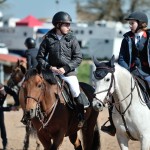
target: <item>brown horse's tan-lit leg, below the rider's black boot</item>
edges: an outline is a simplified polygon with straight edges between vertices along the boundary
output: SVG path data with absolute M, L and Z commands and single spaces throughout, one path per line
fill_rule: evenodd
M 69 140 L 74 145 L 75 150 L 82 150 L 81 141 L 77 133 L 70 135 Z

